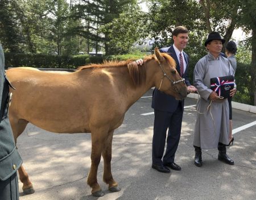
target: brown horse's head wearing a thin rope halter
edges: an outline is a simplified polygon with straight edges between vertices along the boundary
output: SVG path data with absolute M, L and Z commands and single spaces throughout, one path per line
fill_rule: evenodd
M 159 80 L 156 80 L 156 88 L 178 100 L 187 97 L 187 86 L 176 70 L 174 59 L 167 53 L 160 53 L 158 47 L 155 48 L 155 57 L 160 71 Z

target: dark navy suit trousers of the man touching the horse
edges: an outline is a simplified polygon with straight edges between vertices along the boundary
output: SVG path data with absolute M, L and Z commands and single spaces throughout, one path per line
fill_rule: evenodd
M 174 163 L 175 153 L 180 141 L 181 123 L 183 118 L 181 101 L 174 112 L 154 110 L 154 113 L 152 164 L 162 165 L 164 163 Z M 166 139 L 167 128 L 168 135 Z M 166 153 L 163 157 L 166 143 Z

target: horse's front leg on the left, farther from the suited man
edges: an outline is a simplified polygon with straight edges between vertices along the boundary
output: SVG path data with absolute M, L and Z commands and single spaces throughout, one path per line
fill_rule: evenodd
M 101 153 L 104 144 L 104 140 L 108 132 L 92 131 L 92 153 L 90 159 L 92 164 L 90 166 L 90 172 L 88 175 L 87 184 L 92 188 L 92 194 L 96 197 L 102 197 L 104 193 L 101 191 L 100 185 L 97 181 L 98 164 L 101 161 Z

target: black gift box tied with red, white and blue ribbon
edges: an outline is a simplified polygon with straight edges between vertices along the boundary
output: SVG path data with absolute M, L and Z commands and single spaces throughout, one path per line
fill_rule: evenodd
M 223 76 L 210 78 L 210 89 L 215 91 L 218 96 L 229 97 L 230 90 L 234 88 L 234 76 Z

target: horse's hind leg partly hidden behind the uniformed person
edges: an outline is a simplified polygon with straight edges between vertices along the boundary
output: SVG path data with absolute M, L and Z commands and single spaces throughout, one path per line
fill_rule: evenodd
M 12 118 L 12 115 L 10 115 L 10 123 L 11 123 L 11 128 L 13 130 L 13 135 L 14 135 L 14 140 L 15 143 L 17 141 L 17 138 L 22 132 L 25 130 L 27 126 L 27 121 L 24 119 L 14 119 Z M 23 168 L 23 165 L 20 166 L 18 169 L 19 172 L 19 179 L 22 182 L 22 190 L 24 194 L 33 194 L 35 192 L 33 185 L 28 178 L 28 174 L 26 170 Z

